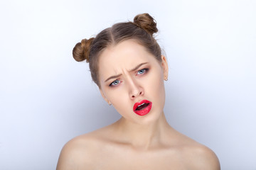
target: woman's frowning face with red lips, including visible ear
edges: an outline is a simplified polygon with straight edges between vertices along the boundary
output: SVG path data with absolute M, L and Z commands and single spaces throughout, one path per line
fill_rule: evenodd
M 162 62 L 135 40 L 110 46 L 100 55 L 100 92 L 126 120 L 156 120 L 163 113 L 166 58 Z

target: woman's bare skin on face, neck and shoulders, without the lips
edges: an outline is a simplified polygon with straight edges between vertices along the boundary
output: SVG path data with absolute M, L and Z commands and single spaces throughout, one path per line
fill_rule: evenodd
M 102 97 L 122 118 L 70 140 L 60 153 L 58 170 L 220 169 L 213 151 L 166 121 L 166 57 L 159 62 L 135 40 L 124 40 L 102 52 L 99 67 Z M 134 103 L 142 100 L 151 101 L 152 107 L 146 115 L 137 115 Z

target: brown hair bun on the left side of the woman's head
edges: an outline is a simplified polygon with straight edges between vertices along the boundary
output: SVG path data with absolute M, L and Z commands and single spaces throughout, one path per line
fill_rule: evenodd
M 94 40 L 94 38 L 90 38 L 89 40 L 83 39 L 81 42 L 78 42 L 75 45 L 75 47 L 73 48 L 73 57 L 75 61 L 82 62 L 86 60 L 86 62 L 89 62 L 92 40 Z

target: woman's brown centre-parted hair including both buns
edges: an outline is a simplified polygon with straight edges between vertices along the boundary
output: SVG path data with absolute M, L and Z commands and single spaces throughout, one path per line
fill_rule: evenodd
M 107 47 L 132 39 L 161 62 L 161 48 L 153 36 L 157 31 L 154 18 L 148 13 L 139 14 L 134 17 L 134 22 L 116 23 L 111 28 L 102 30 L 95 38 L 78 42 L 73 49 L 73 57 L 78 62 L 89 62 L 92 80 L 100 88 L 99 59 Z

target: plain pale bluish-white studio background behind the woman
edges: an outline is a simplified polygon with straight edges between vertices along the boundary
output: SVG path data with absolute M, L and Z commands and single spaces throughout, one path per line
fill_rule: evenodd
M 1 1 L 0 169 L 55 169 L 71 138 L 119 114 L 72 50 L 150 13 L 169 60 L 169 123 L 224 170 L 256 169 L 256 1 Z

